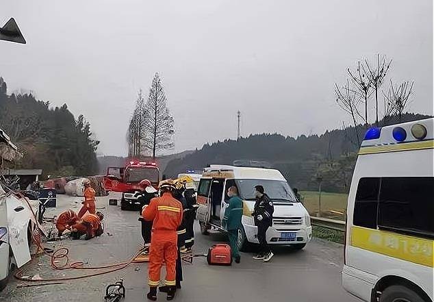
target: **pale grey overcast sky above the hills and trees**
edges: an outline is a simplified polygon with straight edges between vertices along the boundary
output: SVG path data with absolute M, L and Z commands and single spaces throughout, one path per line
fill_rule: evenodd
M 333 84 L 361 58 L 393 59 L 415 81 L 411 110 L 433 114 L 432 0 L 2 0 L 27 45 L 0 42 L 9 92 L 84 114 L 99 153 L 125 155 L 139 88 L 162 75 L 175 151 L 242 136 L 320 134 L 349 121 Z

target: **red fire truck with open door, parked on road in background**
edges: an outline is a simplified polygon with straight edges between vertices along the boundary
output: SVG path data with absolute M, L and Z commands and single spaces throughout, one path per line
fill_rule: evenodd
M 125 167 L 109 167 L 105 175 L 106 190 L 122 192 L 120 206 L 122 210 L 140 206 L 138 197 L 143 188 L 140 181 L 148 179 L 154 188 L 158 188 L 160 181 L 159 168 L 156 162 L 127 162 Z

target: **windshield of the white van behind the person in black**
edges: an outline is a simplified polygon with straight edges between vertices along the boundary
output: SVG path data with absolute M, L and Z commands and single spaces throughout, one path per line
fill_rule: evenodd
M 296 203 L 294 192 L 286 181 L 264 179 L 236 179 L 240 197 L 245 200 L 255 199 L 255 186 L 264 187 L 265 193 L 274 202 Z

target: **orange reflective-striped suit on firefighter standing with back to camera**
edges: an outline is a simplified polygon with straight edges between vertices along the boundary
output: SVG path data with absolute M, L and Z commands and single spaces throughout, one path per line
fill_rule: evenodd
M 153 221 L 151 248 L 149 251 L 148 284 L 159 285 L 160 270 L 166 263 L 166 286 L 175 286 L 177 262 L 177 228 L 182 221 L 182 205 L 165 192 L 162 197 L 151 200 L 142 216 L 146 221 Z

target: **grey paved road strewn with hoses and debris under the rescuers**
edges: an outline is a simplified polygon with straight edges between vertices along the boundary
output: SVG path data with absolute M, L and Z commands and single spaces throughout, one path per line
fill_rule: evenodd
M 46 216 L 64 208 L 79 207 L 79 198 L 61 196 L 58 208 L 48 210 Z M 89 264 L 107 264 L 128 259 L 140 246 L 140 229 L 136 212 L 123 212 L 108 205 L 107 197 L 99 197 L 97 207 L 104 207 L 107 218 L 105 234 L 89 241 L 63 240 L 47 247 L 68 247 L 71 260 L 84 260 Z M 48 227 L 48 225 L 47 225 Z M 107 235 L 107 233 L 110 234 Z M 202 236 L 196 225 L 195 251 L 206 251 L 214 242 L 225 241 L 225 236 Z M 359 301 L 341 287 L 342 247 L 330 242 L 314 240 L 303 251 L 276 249 L 269 263 L 252 259 L 251 253 L 242 253 L 241 264 L 231 267 L 208 266 L 205 258 L 185 264 L 183 288 L 176 301 L 214 302 L 353 302 Z M 20 282 L 12 280 L 0 294 L 0 301 L 103 301 L 107 284 L 123 278 L 127 288 L 125 302 L 145 301 L 146 264 L 131 264 L 118 272 L 84 279 L 67 281 L 61 285 L 16 288 Z M 87 273 L 81 271 L 53 271 L 49 257 L 44 255 L 25 266 L 25 275 L 41 277 L 66 277 Z M 166 301 L 164 295 L 159 300 Z

